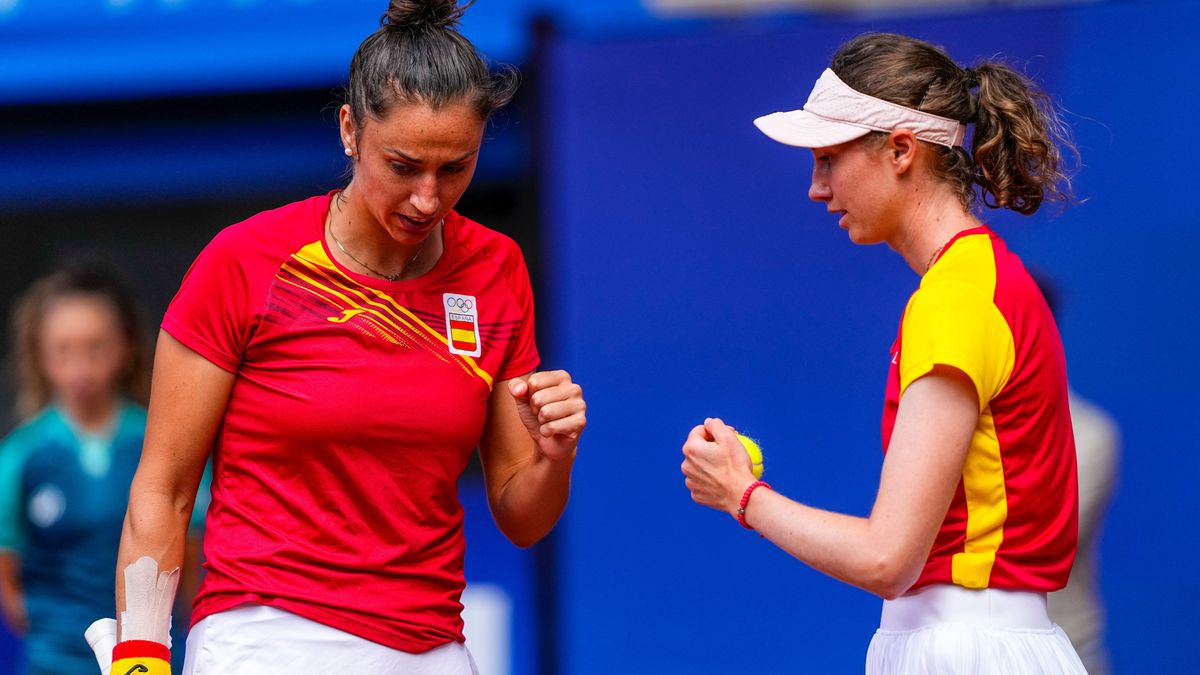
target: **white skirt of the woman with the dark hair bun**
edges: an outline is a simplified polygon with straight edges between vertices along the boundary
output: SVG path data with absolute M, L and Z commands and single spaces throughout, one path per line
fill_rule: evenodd
M 259 604 L 202 619 L 187 634 L 184 675 L 479 675 L 467 645 L 409 653 Z

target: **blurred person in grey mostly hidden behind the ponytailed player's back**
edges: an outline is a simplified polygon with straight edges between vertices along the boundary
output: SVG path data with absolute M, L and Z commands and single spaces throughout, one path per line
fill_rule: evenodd
M 1058 289 L 1045 276 L 1034 274 L 1050 311 L 1058 316 Z M 1079 658 L 1091 675 L 1108 675 L 1109 649 L 1105 638 L 1108 613 L 1100 598 L 1100 532 L 1121 464 L 1121 430 L 1100 406 L 1069 389 L 1070 424 L 1075 429 L 1075 464 L 1079 467 L 1079 552 L 1070 568 L 1067 587 L 1046 597 L 1050 617 L 1070 638 Z

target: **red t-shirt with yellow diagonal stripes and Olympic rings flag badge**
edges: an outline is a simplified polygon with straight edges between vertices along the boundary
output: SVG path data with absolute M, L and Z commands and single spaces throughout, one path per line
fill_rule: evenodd
M 329 201 L 217 234 L 162 323 L 236 375 L 192 621 L 252 602 L 422 652 L 463 640 L 456 482 L 493 383 L 538 364 L 529 276 L 456 213 L 430 273 L 355 274 L 324 244 Z

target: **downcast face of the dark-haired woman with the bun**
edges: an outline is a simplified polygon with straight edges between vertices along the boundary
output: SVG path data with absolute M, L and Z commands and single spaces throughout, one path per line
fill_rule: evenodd
M 342 106 L 342 145 L 353 153 L 354 178 L 330 207 L 336 241 L 329 247 L 362 274 L 419 276 L 440 257 L 442 220 L 475 174 L 485 121 L 467 98 L 439 108 L 397 102 L 383 119 L 360 121 Z

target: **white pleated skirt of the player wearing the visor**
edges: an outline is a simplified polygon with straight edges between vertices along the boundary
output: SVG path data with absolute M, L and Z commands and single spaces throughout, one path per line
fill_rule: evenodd
M 1045 593 L 926 586 L 883 602 L 866 675 L 1086 675 Z

